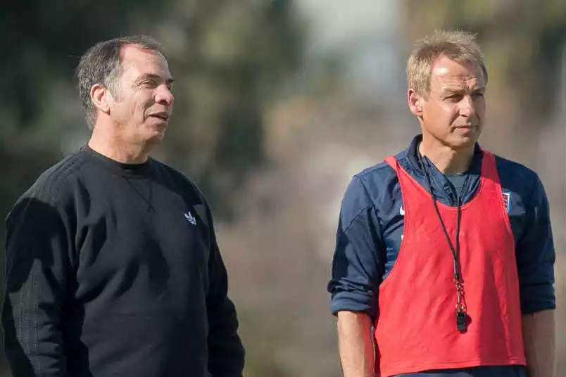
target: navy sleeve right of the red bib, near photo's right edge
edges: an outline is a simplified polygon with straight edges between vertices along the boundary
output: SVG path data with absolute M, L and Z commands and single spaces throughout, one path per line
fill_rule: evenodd
M 526 224 L 516 245 L 521 311 L 555 309 L 553 243 L 548 198 L 539 177 L 526 200 Z

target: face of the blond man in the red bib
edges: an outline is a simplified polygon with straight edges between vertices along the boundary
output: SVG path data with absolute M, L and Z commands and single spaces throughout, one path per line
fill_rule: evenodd
M 439 57 L 422 103 L 422 132 L 453 149 L 473 146 L 484 126 L 485 77 L 479 65 Z

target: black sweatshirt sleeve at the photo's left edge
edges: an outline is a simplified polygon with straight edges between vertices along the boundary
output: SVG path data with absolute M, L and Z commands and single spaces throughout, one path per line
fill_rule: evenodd
M 61 308 L 68 237 L 60 212 L 24 198 L 6 219 L 6 274 L 1 324 L 13 377 L 65 376 Z

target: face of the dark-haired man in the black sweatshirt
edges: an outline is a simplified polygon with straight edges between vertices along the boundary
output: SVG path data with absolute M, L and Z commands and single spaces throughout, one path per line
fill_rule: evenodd
M 157 51 L 128 45 L 122 48 L 110 117 L 129 143 L 163 139 L 173 108 L 172 78 L 167 60 Z

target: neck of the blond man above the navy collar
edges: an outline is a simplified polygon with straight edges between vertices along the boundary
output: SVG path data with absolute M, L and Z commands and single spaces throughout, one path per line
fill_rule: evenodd
M 442 174 L 459 174 L 467 172 L 472 158 L 474 146 L 454 150 L 449 146 L 439 145 L 438 141 L 423 139 L 418 146 L 421 155 L 426 155 Z

